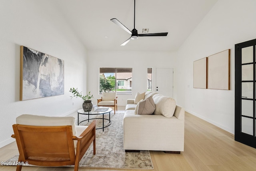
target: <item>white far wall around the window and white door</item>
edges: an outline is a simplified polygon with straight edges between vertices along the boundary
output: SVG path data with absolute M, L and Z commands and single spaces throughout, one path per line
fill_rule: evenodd
M 118 95 L 118 105 L 126 105 L 126 99 L 132 99 L 137 92 L 147 90 L 147 68 L 153 68 L 153 91 L 155 91 L 156 68 L 174 68 L 174 98 L 176 53 L 171 52 L 88 52 L 87 87 L 94 95 L 92 99 L 97 104 L 99 95 L 99 68 L 116 67 L 132 68 L 132 95 Z

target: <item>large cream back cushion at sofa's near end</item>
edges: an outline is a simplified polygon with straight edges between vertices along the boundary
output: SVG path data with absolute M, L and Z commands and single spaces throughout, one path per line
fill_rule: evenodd
M 172 117 L 176 108 L 176 101 L 171 97 L 155 94 L 153 99 L 156 105 L 154 115 L 164 115 L 165 117 Z

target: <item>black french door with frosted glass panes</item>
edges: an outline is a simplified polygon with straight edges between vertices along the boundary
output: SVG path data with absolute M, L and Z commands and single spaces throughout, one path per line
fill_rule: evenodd
M 256 39 L 235 45 L 235 140 L 256 148 Z

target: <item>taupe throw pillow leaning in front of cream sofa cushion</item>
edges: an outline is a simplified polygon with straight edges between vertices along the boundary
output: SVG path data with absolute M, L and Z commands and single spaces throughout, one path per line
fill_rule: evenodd
M 156 109 L 152 96 L 140 101 L 137 105 L 137 115 L 151 115 Z

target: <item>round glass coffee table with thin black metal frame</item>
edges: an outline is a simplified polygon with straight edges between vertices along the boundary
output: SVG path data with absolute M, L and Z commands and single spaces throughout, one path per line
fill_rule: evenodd
M 98 108 L 98 109 L 100 109 L 100 108 Z M 104 131 L 105 127 L 108 127 L 109 125 L 111 125 L 111 121 L 110 121 L 110 112 L 111 111 L 112 111 L 111 107 L 108 107 L 108 109 L 106 111 L 94 111 L 94 109 L 92 109 L 92 111 L 84 111 L 84 109 L 79 109 L 77 111 L 77 125 L 79 125 L 81 122 L 84 122 L 84 121 L 89 122 L 92 119 L 102 119 L 102 127 L 96 128 L 96 129 L 102 129 L 102 131 Z M 105 113 L 109 113 L 109 119 L 104 118 Z M 79 122 L 79 114 L 88 115 L 88 119 Z M 92 118 L 92 119 L 90 119 L 90 115 L 102 115 L 102 118 Z M 108 125 L 104 126 L 104 120 L 109 121 Z

